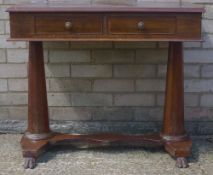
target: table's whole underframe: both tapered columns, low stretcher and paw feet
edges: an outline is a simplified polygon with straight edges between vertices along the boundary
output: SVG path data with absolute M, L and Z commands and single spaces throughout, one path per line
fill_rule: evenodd
M 188 166 L 186 157 L 191 154 L 191 139 L 184 129 L 183 54 L 181 42 L 170 42 L 163 131 L 161 134 L 72 135 L 52 133 L 49 128 L 47 93 L 42 42 L 30 42 L 29 49 L 29 118 L 28 129 L 21 140 L 25 168 L 34 168 L 37 157 L 48 146 L 164 146 L 177 158 L 180 168 Z

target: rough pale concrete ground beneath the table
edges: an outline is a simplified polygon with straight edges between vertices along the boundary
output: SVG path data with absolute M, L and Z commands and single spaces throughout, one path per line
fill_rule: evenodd
M 0 175 L 213 175 L 213 137 L 193 138 L 187 169 L 160 148 L 59 149 L 38 160 L 34 170 L 23 169 L 21 135 L 0 135 Z

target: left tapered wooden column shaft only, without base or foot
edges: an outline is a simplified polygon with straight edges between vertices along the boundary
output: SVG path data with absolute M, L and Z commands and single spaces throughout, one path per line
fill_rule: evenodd
M 42 42 L 29 43 L 28 135 L 50 133 Z

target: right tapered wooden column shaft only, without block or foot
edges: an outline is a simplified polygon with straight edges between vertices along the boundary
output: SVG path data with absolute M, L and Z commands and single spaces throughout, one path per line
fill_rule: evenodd
M 186 134 L 184 129 L 183 48 L 181 42 L 169 43 L 166 97 L 164 105 L 164 137 Z

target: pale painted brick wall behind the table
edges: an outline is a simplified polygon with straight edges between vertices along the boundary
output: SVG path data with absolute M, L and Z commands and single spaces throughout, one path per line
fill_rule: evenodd
M 5 10 L 21 1 L 0 0 L 2 132 L 22 132 L 26 128 L 28 44 L 6 41 L 9 22 Z M 211 1 L 199 1 L 206 7 L 205 41 L 184 43 L 185 119 L 191 134 L 213 134 Z M 160 130 L 167 45 L 166 42 L 45 42 L 51 126 L 65 132 Z

